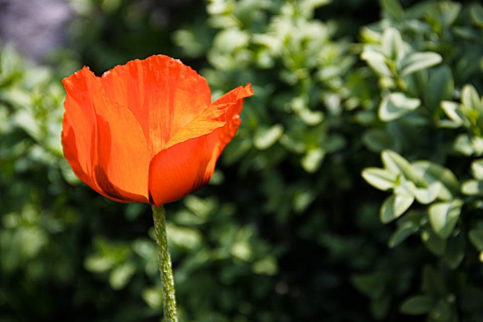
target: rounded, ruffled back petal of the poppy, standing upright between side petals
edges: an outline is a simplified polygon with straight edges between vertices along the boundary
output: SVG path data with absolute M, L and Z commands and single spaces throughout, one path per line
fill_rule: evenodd
M 151 158 L 211 101 L 203 77 L 164 55 L 116 66 L 101 81 L 106 96 L 126 106 L 141 125 Z

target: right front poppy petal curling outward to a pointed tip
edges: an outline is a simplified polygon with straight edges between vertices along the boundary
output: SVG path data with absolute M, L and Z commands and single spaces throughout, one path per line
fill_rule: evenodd
M 241 120 L 243 98 L 253 95 L 250 84 L 238 87 L 212 103 L 217 116 L 212 127 L 207 126 L 207 114 L 190 123 L 173 138 L 176 142 L 154 156 L 149 165 L 149 193 L 156 206 L 180 199 L 203 187 L 210 180 L 216 160 L 233 138 Z M 214 113 L 217 115 L 218 113 Z M 223 123 L 225 124 L 213 127 Z M 208 122 L 209 123 L 209 122 Z M 198 126 L 198 127 L 197 127 Z M 206 133 L 206 131 L 211 132 Z M 200 136 L 196 136 L 200 135 Z M 186 140 L 184 140 L 186 139 Z

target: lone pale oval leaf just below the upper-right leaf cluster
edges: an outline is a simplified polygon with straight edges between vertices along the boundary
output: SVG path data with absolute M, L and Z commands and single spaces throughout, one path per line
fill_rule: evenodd
M 404 93 L 396 92 L 382 98 L 379 104 L 379 119 L 390 122 L 416 110 L 421 105 L 421 99 L 410 98 Z

